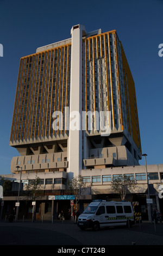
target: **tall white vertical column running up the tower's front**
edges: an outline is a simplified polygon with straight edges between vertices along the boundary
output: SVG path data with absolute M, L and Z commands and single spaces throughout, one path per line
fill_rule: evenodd
M 70 130 L 68 137 L 68 176 L 82 170 L 82 32 L 84 26 L 71 29 Z

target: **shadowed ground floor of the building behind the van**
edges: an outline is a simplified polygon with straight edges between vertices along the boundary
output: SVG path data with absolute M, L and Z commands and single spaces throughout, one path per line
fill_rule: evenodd
M 148 220 L 149 208 L 147 204 L 147 194 L 134 193 L 127 194 L 126 200 L 131 202 L 138 202 L 136 212 L 139 212 L 141 215 L 141 220 Z M 152 209 L 158 209 L 161 214 L 163 214 L 163 199 L 158 197 L 158 194 L 150 195 L 152 203 L 150 204 L 151 212 Z M 42 197 L 38 199 L 33 204 L 30 200 L 20 200 L 20 205 L 18 206 L 17 211 L 17 220 L 36 220 L 36 221 L 53 221 L 59 220 L 60 212 L 64 212 L 64 219 L 71 220 L 72 212 L 78 211 L 79 214 L 82 214 L 86 206 L 92 202 L 92 200 L 106 200 L 106 201 L 121 201 L 120 195 L 118 194 L 96 194 L 85 196 L 80 199 L 76 204 L 76 200 L 69 199 L 59 199 L 59 200 L 50 200 L 49 197 Z M 4 197 L 1 202 L 0 212 L 1 220 L 9 220 L 9 216 L 16 215 L 16 198 L 9 199 Z M 71 211 L 71 213 L 70 213 Z M 34 216 L 34 217 L 33 217 Z

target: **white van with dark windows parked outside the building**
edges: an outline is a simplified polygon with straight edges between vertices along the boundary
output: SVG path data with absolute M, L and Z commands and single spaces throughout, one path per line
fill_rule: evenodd
M 101 202 L 90 203 L 83 214 L 78 217 L 80 229 L 92 228 L 99 230 L 100 227 L 127 225 L 135 223 L 134 212 L 130 202 Z

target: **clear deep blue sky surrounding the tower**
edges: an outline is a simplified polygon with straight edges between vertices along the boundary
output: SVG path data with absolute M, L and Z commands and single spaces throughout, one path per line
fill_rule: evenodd
M 135 81 L 142 153 L 147 164 L 162 164 L 162 13 L 162 0 L 0 0 L 0 175 L 10 174 L 11 159 L 18 155 L 9 139 L 20 58 L 70 38 L 71 27 L 79 23 L 87 32 L 116 29 Z

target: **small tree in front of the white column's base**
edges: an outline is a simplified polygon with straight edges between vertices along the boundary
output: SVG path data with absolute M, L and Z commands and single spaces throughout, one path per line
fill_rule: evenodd
M 83 181 L 83 177 L 81 175 L 78 175 L 73 179 L 68 180 L 68 189 L 70 190 L 70 193 L 74 194 L 74 197 L 76 199 L 76 210 L 77 210 L 77 204 L 81 199 L 81 197 L 83 196 L 83 193 L 86 189 L 86 184 Z

